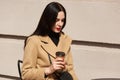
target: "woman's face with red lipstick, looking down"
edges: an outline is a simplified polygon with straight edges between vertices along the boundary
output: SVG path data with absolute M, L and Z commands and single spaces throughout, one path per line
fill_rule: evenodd
M 65 14 L 63 11 L 60 11 L 57 15 L 55 25 L 52 27 L 52 31 L 55 33 L 59 33 L 62 30 L 64 24 Z

